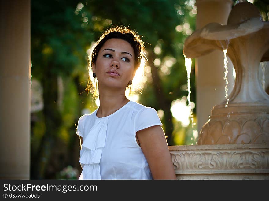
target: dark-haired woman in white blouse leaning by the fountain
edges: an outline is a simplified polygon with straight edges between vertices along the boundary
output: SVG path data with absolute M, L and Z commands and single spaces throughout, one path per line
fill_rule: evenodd
M 125 96 L 144 58 L 140 37 L 121 27 L 106 31 L 89 56 L 100 106 L 78 121 L 79 179 L 176 179 L 156 110 Z

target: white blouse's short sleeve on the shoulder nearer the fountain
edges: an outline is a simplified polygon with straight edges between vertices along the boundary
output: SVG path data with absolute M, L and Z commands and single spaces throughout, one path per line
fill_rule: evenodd
M 135 117 L 135 132 L 155 125 L 162 126 L 162 122 L 154 108 L 143 108 Z

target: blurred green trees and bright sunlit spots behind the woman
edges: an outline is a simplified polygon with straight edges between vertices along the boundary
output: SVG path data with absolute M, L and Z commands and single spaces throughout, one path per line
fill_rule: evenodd
M 268 1 L 249 2 L 268 20 Z M 128 98 L 157 110 L 168 145 L 196 144 L 194 60 L 189 106 L 182 53 L 196 14 L 195 0 L 32 0 L 31 179 L 78 178 L 77 122 L 99 106 L 85 91 L 87 58 L 113 25 L 135 30 L 146 43 L 148 62 L 135 81 L 139 90 Z

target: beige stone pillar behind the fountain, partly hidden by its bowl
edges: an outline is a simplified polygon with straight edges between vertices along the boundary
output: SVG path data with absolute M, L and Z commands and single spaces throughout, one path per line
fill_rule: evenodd
M 196 29 L 203 28 L 206 24 L 217 22 L 227 24 L 227 19 L 232 9 L 231 0 L 197 0 Z M 213 106 L 225 100 L 225 80 L 223 52 L 215 50 L 210 54 L 195 58 L 196 80 L 196 114 L 197 130 L 208 121 L 208 116 Z M 233 89 L 233 64 L 228 59 L 228 94 Z

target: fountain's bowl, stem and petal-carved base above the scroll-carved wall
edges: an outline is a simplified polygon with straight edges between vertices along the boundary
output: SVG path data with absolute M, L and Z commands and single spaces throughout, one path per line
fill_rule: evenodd
M 227 25 L 207 24 L 193 32 L 185 43 L 187 58 L 197 58 L 215 49 L 227 49 L 236 72 L 227 100 L 214 106 L 202 127 L 198 144 L 269 143 L 269 95 L 259 80 L 259 64 L 269 60 L 269 22 L 249 2 L 236 4 Z

